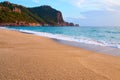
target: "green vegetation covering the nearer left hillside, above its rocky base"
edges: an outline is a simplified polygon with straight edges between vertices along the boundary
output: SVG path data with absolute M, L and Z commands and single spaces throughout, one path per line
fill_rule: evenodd
M 18 8 L 21 12 L 14 12 L 14 8 Z M 0 3 L 0 23 L 15 23 L 16 21 L 37 22 L 22 6 L 11 4 L 9 2 Z

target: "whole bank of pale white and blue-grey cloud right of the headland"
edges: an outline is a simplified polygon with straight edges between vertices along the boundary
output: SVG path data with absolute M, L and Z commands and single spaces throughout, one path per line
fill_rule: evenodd
M 76 6 L 79 15 L 66 21 L 83 26 L 115 26 L 120 24 L 120 0 L 65 0 Z M 76 13 L 74 12 L 74 13 Z

